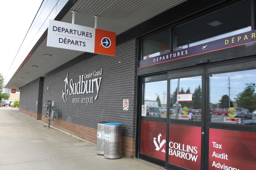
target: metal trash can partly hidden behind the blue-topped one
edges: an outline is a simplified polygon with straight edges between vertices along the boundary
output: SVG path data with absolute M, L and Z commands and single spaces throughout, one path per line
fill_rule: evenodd
M 109 122 L 107 122 L 107 121 L 98 122 L 96 153 L 100 154 L 100 155 L 104 155 L 105 123 L 109 123 Z

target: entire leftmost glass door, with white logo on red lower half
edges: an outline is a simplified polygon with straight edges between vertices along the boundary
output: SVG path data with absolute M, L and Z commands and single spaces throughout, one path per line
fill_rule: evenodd
M 142 78 L 139 158 L 164 166 L 167 74 Z

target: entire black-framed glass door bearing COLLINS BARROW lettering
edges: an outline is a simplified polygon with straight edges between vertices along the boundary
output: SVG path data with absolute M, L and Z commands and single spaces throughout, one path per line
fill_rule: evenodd
M 199 170 L 204 158 L 204 68 L 170 72 L 166 167 Z

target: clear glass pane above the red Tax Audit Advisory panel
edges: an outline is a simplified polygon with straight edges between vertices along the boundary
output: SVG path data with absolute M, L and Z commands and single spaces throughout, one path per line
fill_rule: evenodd
M 211 122 L 256 125 L 256 70 L 209 75 Z

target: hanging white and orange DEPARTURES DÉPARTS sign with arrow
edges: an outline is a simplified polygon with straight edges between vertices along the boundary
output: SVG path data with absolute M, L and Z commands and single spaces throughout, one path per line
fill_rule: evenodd
M 114 56 L 116 33 L 49 20 L 47 46 Z

